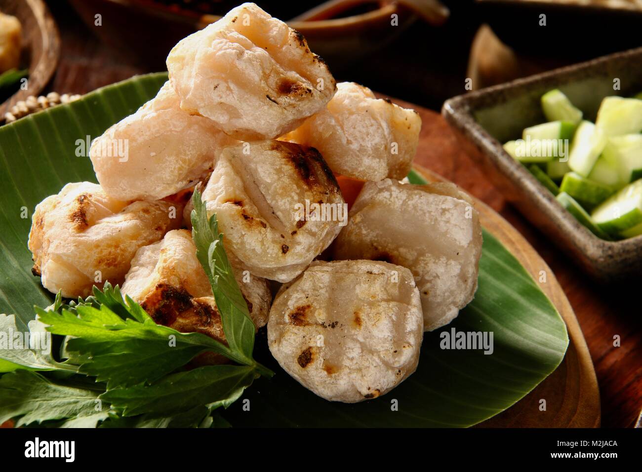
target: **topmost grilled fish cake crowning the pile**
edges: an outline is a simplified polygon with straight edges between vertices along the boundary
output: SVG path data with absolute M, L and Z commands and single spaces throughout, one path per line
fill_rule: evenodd
M 293 130 L 336 89 L 304 37 L 254 3 L 178 42 L 167 69 L 182 109 L 246 141 Z

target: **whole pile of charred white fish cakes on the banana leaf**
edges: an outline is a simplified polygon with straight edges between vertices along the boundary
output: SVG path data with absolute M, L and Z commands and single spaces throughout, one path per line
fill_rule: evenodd
M 394 388 L 424 329 L 473 297 L 481 250 L 462 191 L 399 182 L 419 115 L 337 84 L 300 33 L 252 3 L 178 42 L 167 66 L 157 96 L 92 143 L 100 186 L 68 184 L 37 206 L 35 274 L 66 297 L 121 284 L 156 322 L 225 342 L 184 229 L 196 186 L 281 366 L 333 401 Z M 347 225 L 336 175 L 365 182 Z M 268 281 L 282 283 L 273 303 Z

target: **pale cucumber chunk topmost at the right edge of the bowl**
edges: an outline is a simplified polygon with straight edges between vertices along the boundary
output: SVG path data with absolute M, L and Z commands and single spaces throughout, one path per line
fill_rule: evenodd
M 642 100 L 617 96 L 605 98 L 598 110 L 595 125 L 607 137 L 641 132 Z

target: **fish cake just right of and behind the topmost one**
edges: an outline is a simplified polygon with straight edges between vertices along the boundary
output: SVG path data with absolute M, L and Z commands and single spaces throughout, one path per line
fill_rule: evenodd
M 346 177 L 403 179 L 417 152 L 421 118 L 367 87 L 340 82 L 322 110 L 281 139 L 317 148 L 327 165 Z

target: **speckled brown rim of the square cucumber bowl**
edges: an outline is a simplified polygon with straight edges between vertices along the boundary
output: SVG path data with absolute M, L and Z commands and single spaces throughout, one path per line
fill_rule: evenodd
M 614 60 L 642 60 L 642 48 L 630 49 L 604 57 L 561 67 L 542 74 L 520 78 L 512 82 L 494 85 L 480 91 L 456 96 L 444 103 L 442 114 L 447 121 L 473 141 L 486 159 L 499 169 L 515 186 L 523 188 L 544 216 L 568 235 L 568 242 L 580 250 L 592 261 L 604 259 L 639 258 L 642 248 L 642 236 L 621 241 L 605 241 L 595 236 L 584 225 L 580 224 L 553 194 L 544 188 L 525 166 L 510 157 L 497 139 L 490 135 L 473 118 L 473 110 L 483 109 L 490 103 L 505 103 L 510 96 L 517 96 L 519 91 L 526 91 L 530 86 L 548 84 L 550 89 L 559 87 L 586 76 L 599 76 L 603 65 Z M 587 74 L 588 72 L 588 74 Z

